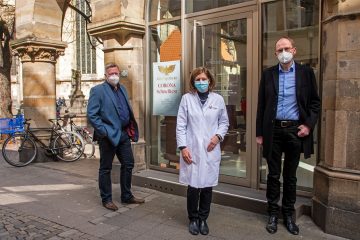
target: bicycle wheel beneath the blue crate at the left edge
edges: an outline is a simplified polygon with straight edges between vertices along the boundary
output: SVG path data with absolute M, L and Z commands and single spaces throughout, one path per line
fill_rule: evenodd
M 37 154 L 35 142 L 24 133 L 8 137 L 2 147 L 7 163 L 15 167 L 24 167 L 34 161 Z

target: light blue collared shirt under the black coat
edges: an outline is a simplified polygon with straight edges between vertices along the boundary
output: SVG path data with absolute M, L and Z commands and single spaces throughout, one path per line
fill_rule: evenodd
M 289 71 L 284 71 L 279 64 L 279 95 L 277 120 L 299 120 L 299 108 L 296 100 L 295 63 Z

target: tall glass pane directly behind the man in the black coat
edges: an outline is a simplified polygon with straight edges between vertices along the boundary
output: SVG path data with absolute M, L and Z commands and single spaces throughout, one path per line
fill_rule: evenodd
M 295 41 L 297 54 L 295 60 L 307 64 L 318 76 L 319 58 L 319 0 L 278 0 L 262 4 L 262 66 L 263 69 L 277 64 L 274 55 L 275 43 L 282 36 L 289 36 Z M 317 79 L 319 79 L 317 77 Z M 317 139 L 317 129 L 314 130 Z M 314 146 L 315 151 L 317 149 Z M 313 187 L 313 170 L 317 153 L 309 159 L 300 159 L 297 170 L 297 185 Z M 267 165 L 262 158 L 260 181 L 266 183 Z

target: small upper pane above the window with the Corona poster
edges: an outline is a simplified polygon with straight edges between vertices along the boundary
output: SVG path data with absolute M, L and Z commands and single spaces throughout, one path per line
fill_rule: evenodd
M 150 3 L 150 21 L 159 21 L 180 16 L 181 0 L 152 0 Z

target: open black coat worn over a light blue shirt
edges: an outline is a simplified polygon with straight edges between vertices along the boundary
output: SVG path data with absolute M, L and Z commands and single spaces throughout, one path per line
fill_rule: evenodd
M 310 134 L 303 137 L 302 152 L 305 158 L 314 153 L 313 130 L 320 112 L 315 74 L 312 68 L 295 62 L 296 100 L 300 124 L 310 127 Z M 256 136 L 263 137 L 263 156 L 269 157 L 272 149 L 273 128 L 279 93 L 279 65 L 263 71 L 258 96 Z

